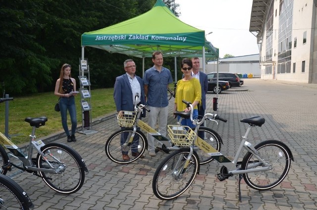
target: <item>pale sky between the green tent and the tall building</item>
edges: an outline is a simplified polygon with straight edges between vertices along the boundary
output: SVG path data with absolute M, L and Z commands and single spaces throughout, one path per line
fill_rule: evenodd
M 175 0 L 179 19 L 205 30 L 206 39 L 224 54 L 258 54 L 257 38 L 249 31 L 252 0 Z

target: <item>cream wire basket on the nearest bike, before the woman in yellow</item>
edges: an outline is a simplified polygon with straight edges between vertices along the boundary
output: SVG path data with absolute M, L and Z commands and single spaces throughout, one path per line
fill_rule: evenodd
M 167 125 L 167 131 L 171 142 L 181 147 L 193 144 L 196 136 L 190 127 L 183 125 Z

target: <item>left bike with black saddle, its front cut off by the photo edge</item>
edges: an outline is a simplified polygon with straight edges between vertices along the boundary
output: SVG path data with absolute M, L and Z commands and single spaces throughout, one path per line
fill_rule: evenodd
M 13 100 L 13 98 L 9 99 Z M 0 99 L 0 102 L 4 100 L 6 99 Z M 25 121 L 32 126 L 27 155 L 0 132 L 0 173 L 5 175 L 14 166 L 21 171 L 41 177 L 51 189 L 58 193 L 77 192 L 85 181 L 85 172 L 88 173 L 83 158 L 65 144 L 45 144 L 42 140 L 35 141 L 35 131 L 48 121 L 46 116 L 27 117 Z M 7 154 L 4 148 L 11 153 Z M 37 152 L 34 158 L 33 151 Z M 18 160 L 19 164 L 10 161 L 9 157 Z

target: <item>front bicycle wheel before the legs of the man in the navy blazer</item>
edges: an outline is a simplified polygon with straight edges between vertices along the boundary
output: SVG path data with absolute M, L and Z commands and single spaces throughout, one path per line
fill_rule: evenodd
M 121 146 L 120 144 L 121 138 L 122 142 L 125 142 L 126 138 L 131 136 L 132 132 L 132 128 L 125 128 L 116 131 L 108 138 L 108 140 L 106 141 L 105 151 L 107 157 L 111 161 L 125 164 L 133 162 L 142 156 L 145 149 L 148 147 L 148 140 L 140 130 L 136 131 L 132 144 L 130 146 Z M 127 154 L 130 159 L 124 160 L 122 157 L 122 153 Z

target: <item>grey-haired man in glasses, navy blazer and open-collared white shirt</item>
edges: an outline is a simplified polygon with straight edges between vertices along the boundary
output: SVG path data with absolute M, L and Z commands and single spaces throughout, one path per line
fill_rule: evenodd
M 144 83 L 141 77 L 136 76 L 136 65 L 132 59 L 124 61 L 125 74 L 118 76 L 114 83 L 113 98 L 118 114 L 120 111 L 134 111 L 134 104 L 145 105 Z M 135 102 L 135 95 L 139 94 L 138 100 Z M 142 114 L 145 117 L 145 111 Z M 124 129 L 125 127 L 121 127 Z M 127 133 L 124 133 L 127 134 Z M 121 135 L 121 145 L 124 144 L 127 135 Z M 139 145 L 139 136 L 136 135 L 132 141 L 132 145 Z M 137 147 L 131 145 L 131 155 L 136 157 L 139 155 Z M 129 151 L 121 151 L 123 160 L 129 160 Z M 144 156 L 141 156 L 144 158 Z

